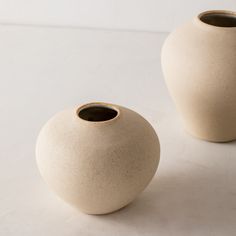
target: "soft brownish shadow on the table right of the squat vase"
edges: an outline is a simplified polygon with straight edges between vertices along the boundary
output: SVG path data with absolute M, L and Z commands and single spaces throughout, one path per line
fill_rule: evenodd
M 236 142 L 226 145 L 232 147 Z M 236 232 L 234 181 L 223 169 L 202 168 L 203 171 L 199 171 L 191 166 L 182 175 L 160 171 L 137 200 L 113 214 L 99 216 L 99 220 L 106 219 L 138 233 L 153 233 L 155 229 L 166 233 L 168 229 L 169 235 L 175 235 L 176 230 L 186 235 L 191 232 L 231 235 Z

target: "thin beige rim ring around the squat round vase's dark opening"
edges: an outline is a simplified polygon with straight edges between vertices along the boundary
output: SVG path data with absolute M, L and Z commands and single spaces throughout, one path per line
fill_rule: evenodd
M 105 108 L 108 108 L 108 109 L 112 109 L 112 110 L 115 110 L 117 112 L 116 116 L 109 119 L 109 120 L 104 120 L 104 121 L 89 121 L 89 120 L 85 120 L 85 119 L 82 119 L 80 116 L 79 116 L 79 112 L 85 108 L 89 108 L 89 107 L 93 107 L 93 106 L 97 106 L 97 107 L 105 107 Z M 112 103 L 106 103 L 106 102 L 89 102 L 89 103 L 85 103 L 83 105 L 80 105 L 79 107 L 76 108 L 76 116 L 77 118 L 80 120 L 80 121 L 83 121 L 83 122 L 86 122 L 86 123 L 89 123 L 89 124 L 104 124 L 104 123 L 110 123 L 110 122 L 113 122 L 115 120 L 117 120 L 119 117 L 120 117 L 120 109 L 117 105 L 115 104 L 112 104 Z

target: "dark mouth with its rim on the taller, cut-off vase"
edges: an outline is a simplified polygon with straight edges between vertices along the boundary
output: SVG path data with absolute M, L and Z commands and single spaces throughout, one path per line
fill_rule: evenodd
M 233 11 L 206 11 L 199 14 L 198 19 L 211 26 L 223 28 L 236 27 L 236 12 Z

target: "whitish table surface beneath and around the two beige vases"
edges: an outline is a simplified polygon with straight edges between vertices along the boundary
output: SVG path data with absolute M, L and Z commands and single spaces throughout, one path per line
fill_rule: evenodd
M 160 68 L 166 34 L 0 26 L 0 235 L 236 235 L 236 142 L 186 134 Z M 90 101 L 151 122 L 161 161 L 128 207 L 85 215 L 49 191 L 35 163 L 41 126 Z

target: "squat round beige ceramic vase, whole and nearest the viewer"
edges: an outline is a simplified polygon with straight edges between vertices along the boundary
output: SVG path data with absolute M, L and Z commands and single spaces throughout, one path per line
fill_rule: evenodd
M 154 176 L 159 157 L 152 126 L 132 110 L 105 103 L 56 114 L 36 145 L 38 167 L 48 185 L 88 214 L 129 204 Z

